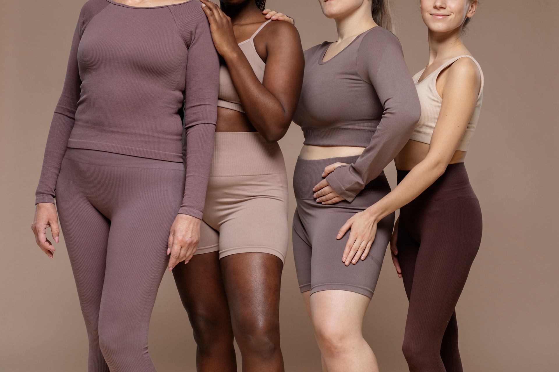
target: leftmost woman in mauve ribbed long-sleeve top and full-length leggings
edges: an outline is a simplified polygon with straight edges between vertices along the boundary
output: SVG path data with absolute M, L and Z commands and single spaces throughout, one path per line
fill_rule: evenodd
M 155 370 L 149 319 L 165 267 L 196 249 L 217 115 L 219 59 L 201 3 L 122 1 L 80 12 L 32 225 L 53 258 L 56 198 L 90 372 Z

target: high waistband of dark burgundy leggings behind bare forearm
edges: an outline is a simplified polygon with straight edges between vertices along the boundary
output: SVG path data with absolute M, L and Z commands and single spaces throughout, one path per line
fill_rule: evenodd
M 409 172 L 397 170 L 397 183 L 400 183 Z M 421 192 L 411 203 L 454 199 L 456 197 L 476 197 L 464 163 L 449 164 L 443 175 L 437 178 L 431 186 Z

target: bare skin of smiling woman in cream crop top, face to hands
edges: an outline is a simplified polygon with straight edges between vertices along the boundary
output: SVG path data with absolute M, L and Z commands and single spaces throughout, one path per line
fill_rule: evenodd
M 477 1 L 422 0 L 421 16 L 428 27 L 429 62 L 421 82 L 444 62 L 460 55 L 470 55 L 462 41 L 462 25 L 476 12 Z M 342 260 L 353 264 L 364 259 L 364 241 L 375 239 L 377 224 L 400 207 L 414 200 L 446 170 L 447 165 L 463 162 L 465 151 L 457 151 L 481 88 L 480 71 L 471 59 L 462 58 L 444 69 L 437 78 L 437 92 L 443 99 L 430 144 L 410 140 L 395 159 L 396 168 L 410 170 L 388 195 L 350 218 L 339 230 L 337 239 L 348 231 L 349 240 Z M 392 261 L 402 276 L 397 259 L 398 221 L 390 242 Z

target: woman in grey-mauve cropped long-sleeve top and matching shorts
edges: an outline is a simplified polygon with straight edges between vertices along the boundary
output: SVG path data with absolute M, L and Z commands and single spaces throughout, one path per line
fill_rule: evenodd
M 320 5 L 336 21 L 338 41 L 305 52 L 294 117 L 305 142 L 293 176 L 293 255 L 324 370 L 377 371 L 361 325 L 394 214 L 378 223 L 372 244 L 336 234 L 351 216 L 390 192 L 383 168 L 410 138 L 419 100 L 400 42 L 387 30 L 387 0 Z M 356 244 L 358 252 L 350 257 Z

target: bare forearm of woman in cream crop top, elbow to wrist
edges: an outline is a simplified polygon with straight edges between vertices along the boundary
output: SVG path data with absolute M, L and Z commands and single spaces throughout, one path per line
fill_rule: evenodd
M 381 200 L 366 209 L 376 222 L 400 209 L 427 190 L 443 173 L 447 163 L 439 160 L 425 160 L 404 177 L 404 179 Z

